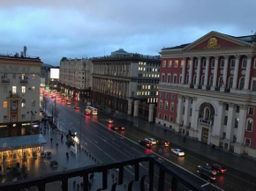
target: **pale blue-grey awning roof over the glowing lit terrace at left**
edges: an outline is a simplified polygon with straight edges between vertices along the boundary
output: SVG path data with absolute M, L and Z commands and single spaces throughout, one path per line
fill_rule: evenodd
M 35 147 L 44 143 L 46 143 L 46 141 L 41 134 L 5 137 L 0 138 L 0 151 L 11 151 L 27 147 Z

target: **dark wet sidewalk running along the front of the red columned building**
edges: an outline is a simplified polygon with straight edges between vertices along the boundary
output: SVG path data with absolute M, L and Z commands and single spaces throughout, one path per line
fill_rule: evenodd
M 104 113 L 108 113 L 104 109 L 102 109 L 102 111 Z M 170 143 L 176 144 L 180 149 L 192 151 L 204 158 L 219 161 L 222 165 L 230 166 L 237 171 L 256 177 L 256 162 L 251 158 L 237 157 L 229 152 L 225 152 L 217 148 L 213 150 L 210 145 L 200 143 L 199 141 L 192 140 L 190 138 L 187 138 L 184 143 L 183 136 L 175 134 L 174 129 L 169 129 L 155 123 L 149 123 L 148 121 L 140 120 L 139 118 L 129 116 L 128 114 L 118 113 L 114 114 L 114 117 L 117 119 L 132 121 L 136 128 L 157 136 L 160 139 L 168 140 Z M 167 129 L 167 132 L 164 132 L 164 129 Z

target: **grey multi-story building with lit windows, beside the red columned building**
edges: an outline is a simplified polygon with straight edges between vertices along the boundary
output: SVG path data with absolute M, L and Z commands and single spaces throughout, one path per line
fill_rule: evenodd
M 148 110 L 139 107 L 140 103 L 157 103 L 159 55 L 131 54 L 119 49 L 109 56 L 96 57 L 93 73 L 93 102 L 109 108 L 148 117 Z M 135 102 L 135 109 L 132 101 Z

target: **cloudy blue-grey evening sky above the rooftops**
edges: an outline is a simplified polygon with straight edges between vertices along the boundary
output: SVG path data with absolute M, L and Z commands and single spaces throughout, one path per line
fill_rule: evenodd
M 0 0 L 0 53 L 59 65 L 118 48 L 158 55 L 210 31 L 256 32 L 256 0 Z

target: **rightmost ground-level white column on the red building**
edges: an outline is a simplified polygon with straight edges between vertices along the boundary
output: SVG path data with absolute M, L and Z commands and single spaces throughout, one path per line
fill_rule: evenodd
M 248 62 L 247 62 L 248 64 Z M 240 106 L 239 111 L 239 121 L 238 121 L 238 127 L 237 127 L 237 142 L 234 145 L 234 151 L 237 154 L 243 153 L 243 145 L 245 140 L 245 127 L 246 127 L 246 114 L 247 114 L 247 108 L 246 106 Z

